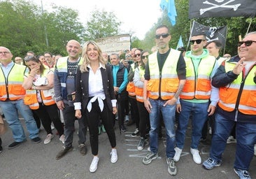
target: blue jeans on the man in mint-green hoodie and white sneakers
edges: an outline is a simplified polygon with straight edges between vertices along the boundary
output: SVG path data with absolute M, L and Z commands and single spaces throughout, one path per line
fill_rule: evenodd
M 192 103 L 184 100 L 180 100 L 181 111 L 178 119 L 178 128 L 176 131 L 176 145 L 178 148 L 183 149 L 185 143 L 185 135 L 187 130 L 187 124 L 190 120 L 190 114 L 192 115 L 192 141 L 190 147 L 197 149 L 201 138 L 201 131 L 204 127 L 204 123 L 208 117 L 208 105 L 209 103 Z

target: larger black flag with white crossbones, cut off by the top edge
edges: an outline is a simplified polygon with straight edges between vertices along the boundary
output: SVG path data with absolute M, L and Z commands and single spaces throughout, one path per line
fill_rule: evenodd
M 190 0 L 189 17 L 255 17 L 255 0 Z

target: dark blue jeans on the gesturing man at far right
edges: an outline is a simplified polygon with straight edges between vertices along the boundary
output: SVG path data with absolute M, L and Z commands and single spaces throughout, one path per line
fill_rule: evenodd
M 215 115 L 215 131 L 211 141 L 210 157 L 215 161 L 221 162 L 222 153 L 227 145 L 229 137 L 235 122 L 222 115 Z M 236 159 L 235 169 L 248 171 L 250 162 L 253 159 L 254 145 L 256 143 L 256 124 L 236 122 Z

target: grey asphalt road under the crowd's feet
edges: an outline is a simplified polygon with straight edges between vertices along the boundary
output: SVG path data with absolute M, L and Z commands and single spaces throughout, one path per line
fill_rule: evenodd
M 22 124 L 24 126 L 24 121 Z M 6 126 L 5 122 L 5 126 Z M 3 124 L 0 125 L 0 131 Z M 77 122 L 76 132 L 73 138 L 73 151 L 58 161 L 55 159 L 57 152 L 62 149 L 62 143 L 59 137 L 55 136 L 47 145 L 43 144 L 46 136 L 44 129 L 41 129 L 39 136 L 41 143 L 33 143 L 27 138 L 22 145 L 8 150 L 8 145 L 13 142 L 10 129 L 2 131 L 3 152 L 0 154 L 0 178 L 176 178 L 176 179 L 234 179 L 238 178 L 233 171 L 234 155 L 236 144 L 228 144 L 223 155 L 222 165 L 215 167 L 211 171 L 203 169 L 201 164 L 195 164 L 190 154 L 190 129 L 187 130 L 185 149 L 176 163 L 178 174 L 170 176 L 167 171 L 165 156 L 165 138 L 159 140 L 159 157 L 149 165 L 142 163 L 146 155 L 148 145 L 143 151 L 136 150 L 139 137 L 131 137 L 135 126 L 127 127 L 127 132 L 120 134 L 118 127 L 116 129 L 118 162 L 112 164 L 110 161 L 111 145 L 106 134 L 99 136 L 99 165 L 95 173 L 90 173 L 89 167 L 92 161 L 89 137 L 87 134 L 87 155 L 82 156 L 78 150 Z M 26 128 L 24 127 L 25 131 Z M 164 131 L 164 130 L 163 130 Z M 55 130 L 53 130 L 55 134 Z M 28 135 L 27 135 L 28 136 Z M 202 161 L 208 158 L 211 136 L 205 143 L 201 143 L 199 150 Z M 250 176 L 256 178 L 256 157 L 250 164 Z

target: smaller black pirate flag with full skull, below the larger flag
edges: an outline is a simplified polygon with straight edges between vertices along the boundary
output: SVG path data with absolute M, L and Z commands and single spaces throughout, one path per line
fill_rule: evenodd
M 220 41 L 222 43 L 222 47 L 225 47 L 227 26 L 208 27 L 193 21 L 190 38 L 191 36 L 197 36 L 198 34 L 205 34 L 207 42 Z

